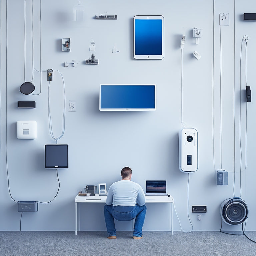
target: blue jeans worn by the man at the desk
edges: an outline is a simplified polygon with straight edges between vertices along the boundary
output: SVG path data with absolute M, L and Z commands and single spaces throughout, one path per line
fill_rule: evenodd
M 116 236 L 114 218 L 120 221 L 129 221 L 134 218 L 133 236 L 142 237 L 142 226 L 144 224 L 147 207 L 146 205 L 136 206 L 104 206 L 104 217 L 108 236 Z

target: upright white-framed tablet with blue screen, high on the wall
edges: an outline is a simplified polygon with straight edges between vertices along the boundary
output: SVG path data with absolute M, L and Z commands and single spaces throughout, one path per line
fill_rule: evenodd
M 133 17 L 133 56 L 135 59 L 163 59 L 163 16 L 137 15 Z

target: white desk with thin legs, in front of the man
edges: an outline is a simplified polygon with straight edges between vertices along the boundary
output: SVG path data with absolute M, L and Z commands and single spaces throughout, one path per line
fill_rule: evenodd
M 107 196 L 76 196 L 75 207 L 76 207 L 76 228 L 75 234 L 77 234 L 77 227 L 80 229 L 80 203 L 106 203 Z M 146 203 L 170 203 L 171 204 L 171 227 L 170 230 L 173 235 L 173 197 L 172 196 L 146 196 Z

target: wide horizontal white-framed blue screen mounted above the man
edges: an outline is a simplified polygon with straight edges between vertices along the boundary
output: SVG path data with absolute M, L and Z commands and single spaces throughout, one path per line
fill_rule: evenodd
M 156 85 L 101 84 L 100 110 L 156 110 Z

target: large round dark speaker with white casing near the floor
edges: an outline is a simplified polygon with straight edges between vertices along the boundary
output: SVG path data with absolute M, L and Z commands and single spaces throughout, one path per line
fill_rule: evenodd
M 220 212 L 225 223 L 239 225 L 247 219 L 248 207 L 240 197 L 233 197 L 222 202 Z

